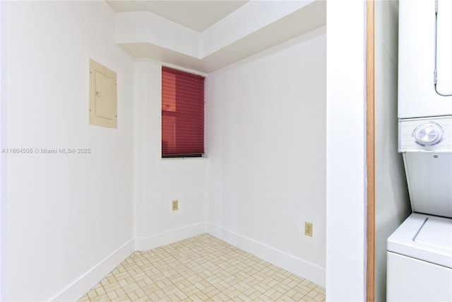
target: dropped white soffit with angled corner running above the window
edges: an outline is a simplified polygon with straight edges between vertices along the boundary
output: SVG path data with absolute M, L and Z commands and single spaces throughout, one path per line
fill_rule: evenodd
M 209 73 L 326 24 L 326 1 L 249 1 L 203 33 L 149 11 L 116 13 L 133 57 Z

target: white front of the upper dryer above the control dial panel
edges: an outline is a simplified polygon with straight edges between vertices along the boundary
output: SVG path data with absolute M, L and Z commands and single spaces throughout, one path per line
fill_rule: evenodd
M 436 62 L 436 1 L 399 1 L 398 117 L 452 115 L 452 96 L 435 91 L 435 62 L 439 70 L 437 87 L 452 93 L 450 0 L 438 0 L 439 52 Z M 442 8 L 441 8 L 442 7 Z M 443 11 L 441 12 L 441 9 Z M 446 27 L 446 29 L 444 29 Z

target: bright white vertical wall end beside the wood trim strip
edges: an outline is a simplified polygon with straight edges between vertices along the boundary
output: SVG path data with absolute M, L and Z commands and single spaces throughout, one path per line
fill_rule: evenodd
M 326 300 L 365 301 L 365 6 L 326 6 Z

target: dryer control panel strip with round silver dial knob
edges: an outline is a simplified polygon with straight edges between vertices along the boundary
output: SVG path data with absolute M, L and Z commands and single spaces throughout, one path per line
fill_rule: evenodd
M 452 152 L 452 117 L 398 121 L 399 152 Z

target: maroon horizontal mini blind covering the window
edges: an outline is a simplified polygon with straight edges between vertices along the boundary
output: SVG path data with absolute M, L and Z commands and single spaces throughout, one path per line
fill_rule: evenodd
M 162 157 L 204 153 L 204 77 L 162 67 Z

